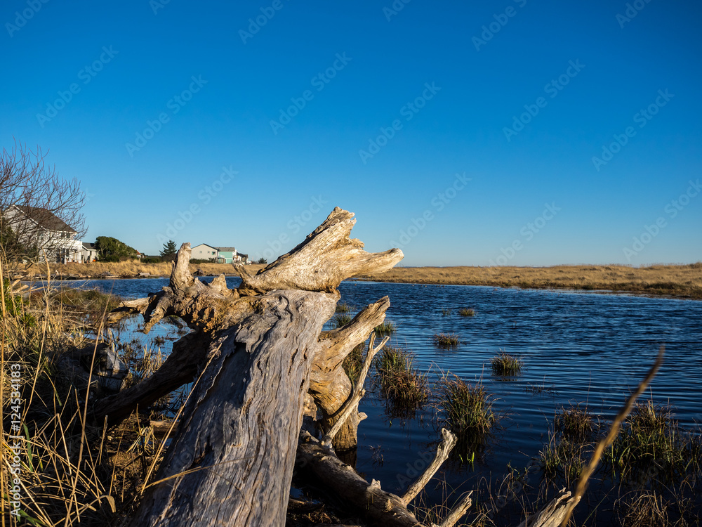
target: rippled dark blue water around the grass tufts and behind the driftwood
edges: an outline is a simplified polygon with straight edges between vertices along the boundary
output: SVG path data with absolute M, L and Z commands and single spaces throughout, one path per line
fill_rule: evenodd
M 168 280 L 66 283 L 143 297 Z M 227 284 L 236 287 L 239 278 L 228 278 Z M 453 464 L 444 470 L 452 488 L 472 488 L 482 477 L 496 481 L 508 471 L 508 463 L 526 467 L 548 443 L 549 424 L 562 405 L 587 401 L 595 412 L 614 416 L 630 389 L 644 377 L 661 344 L 666 356 L 651 384 L 654 401 L 672 405 L 685 427 L 691 429 L 702 421 L 700 301 L 377 282 L 344 282 L 340 292 L 342 301 L 357 311 L 388 295 L 387 320 L 397 326 L 391 345 L 416 353 L 418 370 L 432 375 L 451 372 L 466 381 L 482 379 L 496 396 L 496 409 L 505 415 L 502 429 L 472 467 Z M 477 314 L 458 315 L 463 307 Z M 442 308 L 451 309 L 452 314 L 442 315 Z M 159 330 L 168 331 L 173 331 L 172 326 Z M 435 348 L 432 336 L 439 332 L 458 334 L 458 349 Z M 490 358 L 501 350 L 524 358 L 522 375 L 510 381 L 491 375 Z M 547 386 L 550 391 L 535 394 L 527 390 L 529 385 Z M 385 490 L 402 493 L 407 463 L 432 450 L 437 438 L 434 410 L 419 411 L 411 419 L 392 417 L 385 401 L 370 390 L 360 410 L 369 418 L 359 427 L 358 471 L 380 480 Z

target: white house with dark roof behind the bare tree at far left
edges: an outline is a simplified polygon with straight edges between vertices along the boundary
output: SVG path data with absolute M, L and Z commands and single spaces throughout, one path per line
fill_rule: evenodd
M 83 246 L 76 240 L 76 231 L 47 209 L 12 205 L 6 216 L 20 243 L 36 246 L 40 255 L 46 252 L 48 261 L 82 261 Z

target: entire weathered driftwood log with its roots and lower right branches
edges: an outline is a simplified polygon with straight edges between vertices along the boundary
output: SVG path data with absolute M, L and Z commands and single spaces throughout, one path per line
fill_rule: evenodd
M 167 287 L 110 314 L 114 321 L 140 313 L 146 332 L 175 315 L 194 330 L 174 344 L 152 377 L 93 408 L 95 422 L 114 425 L 194 382 L 132 526 L 283 526 L 295 469 L 366 525 L 422 527 L 408 506 L 448 457 L 452 434 L 443 432 L 434 462 L 403 497 L 368 483 L 336 455 L 357 445 L 364 379 L 385 341 L 373 346 L 371 337 L 355 386 L 343 360 L 383 322 L 390 300 L 370 304 L 344 327 L 322 332 L 322 326 L 334 313 L 342 280 L 387 271 L 403 256 L 399 249 L 365 252 L 362 242 L 349 238 L 354 223 L 353 214 L 335 208 L 300 245 L 256 275 L 239 266 L 237 289 L 228 289 L 223 275 L 210 284 L 195 278 L 190 245 L 183 244 Z M 317 417 L 315 406 L 321 420 L 303 427 L 303 415 Z M 568 504 L 568 496 L 554 504 L 560 518 Z M 470 494 L 440 527 L 452 527 L 468 507 Z M 541 525 L 549 524 L 552 510 Z

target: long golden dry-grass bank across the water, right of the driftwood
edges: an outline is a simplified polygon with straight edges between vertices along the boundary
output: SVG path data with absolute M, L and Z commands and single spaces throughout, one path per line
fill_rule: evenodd
M 702 263 L 649 267 L 396 267 L 362 280 L 420 284 L 491 285 L 524 289 L 606 289 L 702 299 Z

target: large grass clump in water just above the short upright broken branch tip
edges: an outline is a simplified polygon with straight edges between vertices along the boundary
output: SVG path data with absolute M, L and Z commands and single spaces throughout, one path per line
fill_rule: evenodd
M 459 439 L 479 442 L 498 420 L 494 396 L 482 384 L 468 384 L 456 375 L 444 375 L 438 383 L 439 422 Z

